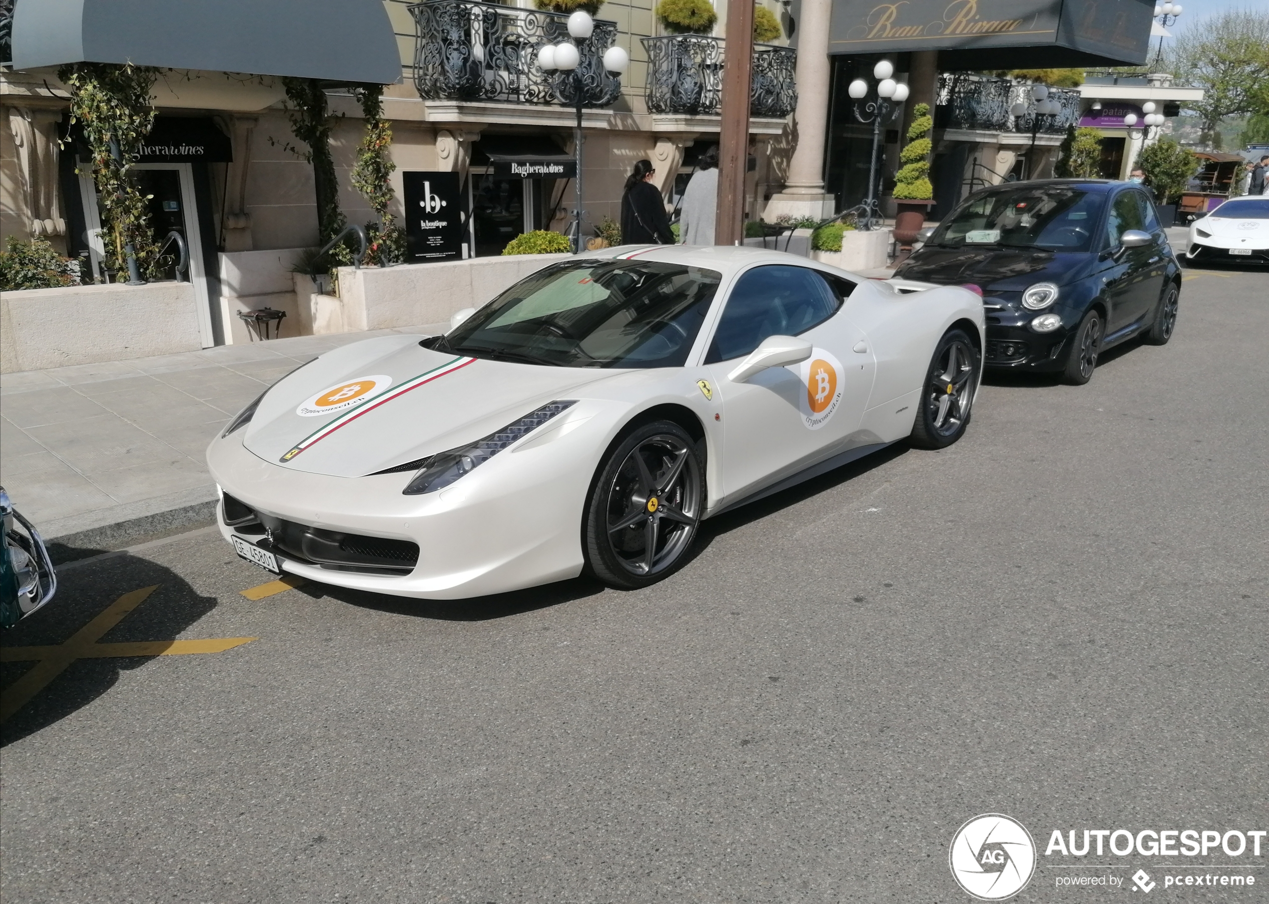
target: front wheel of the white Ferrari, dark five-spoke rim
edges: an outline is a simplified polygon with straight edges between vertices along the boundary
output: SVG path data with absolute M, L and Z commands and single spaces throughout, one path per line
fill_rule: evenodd
M 646 587 L 687 559 L 704 508 L 704 467 L 678 423 L 631 431 L 604 463 L 586 505 L 586 559 L 613 587 Z

